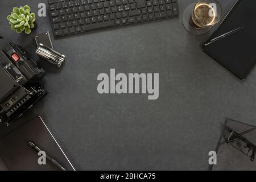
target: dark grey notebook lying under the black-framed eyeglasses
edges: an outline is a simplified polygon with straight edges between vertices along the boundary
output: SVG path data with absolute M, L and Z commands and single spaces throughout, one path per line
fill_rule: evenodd
M 251 143 L 256 144 L 256 127 L 245 123 L 227 119 L 225 126 L 236 131 L 238 134 L 252 129 L 242 136 Z M 243 154 L 229 143 L 225 142 L 223 133 L 217 146 L 217 165 L 210 166 L 213 171 L 255 171 L 256 160 L 251 162 L 249 156 Z

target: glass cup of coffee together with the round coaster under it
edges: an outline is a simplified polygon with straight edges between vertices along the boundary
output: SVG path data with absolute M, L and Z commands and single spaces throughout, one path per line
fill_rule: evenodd
M 217 0 L 200 0 L 189 5 L 183 13 L 183 24 L 195 35 L 209 32 L 221 19 L 221 5 Z

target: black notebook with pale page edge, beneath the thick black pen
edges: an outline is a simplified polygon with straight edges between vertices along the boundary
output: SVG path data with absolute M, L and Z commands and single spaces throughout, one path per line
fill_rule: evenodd
M 35 143 L 66 170 L 75 170 L 40 116 L 0 140 L 0 170 L 60 170 L 49 160 L 46 160 L 46 165 L 39 165 L 40 156 L 28 145 L 29 141 Z

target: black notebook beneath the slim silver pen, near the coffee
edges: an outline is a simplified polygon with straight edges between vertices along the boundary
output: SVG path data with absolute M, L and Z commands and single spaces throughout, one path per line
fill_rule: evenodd
M 256 1 L 238 0 L 208 40 L 211 42 L 228 32 L 239 29 L 221 38 L 203 50 L 224 65 L 234 75 L 244 80 L 256 63 Z

